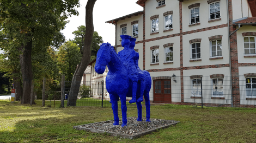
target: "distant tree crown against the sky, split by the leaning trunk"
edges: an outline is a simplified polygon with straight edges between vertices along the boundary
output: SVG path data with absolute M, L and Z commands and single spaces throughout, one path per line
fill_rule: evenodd
M 83 54 L 83 46 L 84 46 L 84 36 L 86 35 L 86 27 L 84 25 L 81 25 L 77 28 L 78 30 L 72 32 L 72 34 L 75 35 L 74 38 L 74 43 L 78 44 L 78 46 L 80 47 L 80 52 Z M 96 58 L 97 55 L 97 51 L 100 49 L 100 44 L 103 43 L 102 37 L 99 36 L 99 34 L 94 31 L 93 32 L 93 42 L 92 42 L 92 55 L 91 55 L 91 59 L 93 60 Z

